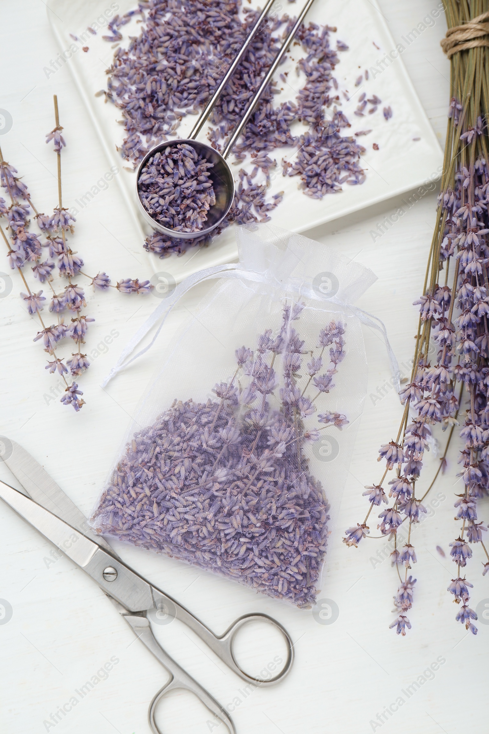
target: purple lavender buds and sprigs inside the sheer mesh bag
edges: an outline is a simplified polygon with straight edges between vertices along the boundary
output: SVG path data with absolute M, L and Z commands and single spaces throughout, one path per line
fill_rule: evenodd
M 302 310 L 285 306 L 275 334 L 259 335 L 254 352 L 236 350 L 235 374 L 215 385 L 217 399 L 176 399 L 133 435 L 92 528 L 300 608 L 315 604 L 329 505 L 304 446 L 348 420 L 325 410 L 321 429 L 306 424 L 334 389 L 345 324 L 330 321 L 317 349 L 306 348 L 292 327 Z

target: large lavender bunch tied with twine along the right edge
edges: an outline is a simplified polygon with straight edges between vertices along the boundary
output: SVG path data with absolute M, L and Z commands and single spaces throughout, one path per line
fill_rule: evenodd
M 449 28 L 473 21 L 478 12 L 476 3 L 463 7 L 452 0 L 446 3 Z M 378 528 L 382 536 L 395 538 L 401 523 L 409 525 L 407 543 L 399 549 L 396 541 L 392 553 L 397 572 L 404 567 L 404 578 L 400 576 L 394 597 L 399 614 L 391 624 L 402 635 L 411 628 L 405 612 L 412 606 L 416 582 L 408 577 L 408 570 L 416 563 L 411 531 L 426 512 L 422 500 L 446 468 L 446 453 L 459 415 L 463 418 L 463 448 L 457 476 L 462 491 L 454 504 L 459 530 L 450 543 L 456 571 L 448 591 L 461 605 L 456 621 L 473 634 L 477 633 L 477 614 L 468 606 L 473 584 L 466 579 L 465 570 L 474 546 L 482 551 L 482 575 L 489 571 L 489 553 L 483 542 L 487 528 L 478 517 L 479 501 L 488 496 L 489 488 L 489 159 L 485 122 L 489 98 L 482 82 L 489 59 L 486 41 L 482 48 L 474 48 L 470 42 L 450 51 L 452 44 L 458 43 L 450 38 L 442 42 L 452 57 L 444 174 L 424 291 L 414 302 L 419 305 L 419 329 L 411 381 L 400 393 L 405 410 L 396 440 L 379 449 L 379 460 L 386 462 L 386 468 L 380 482 L 364 493 L 370 503 L 364 522 L 349 528 L 344 538 L 347 545 L 356 546 L 368 537 L 368 517 L 380 504 L 389 504 L 382 484 L 387 473 L 395 469 L 396 476 L 389 482 L 391 506 L 380 512 Z M 457 98 L 462 89 L 463 103 Z M 433 365 L 428 360 L 430 344 L 435 346 Z M 424 451 L 438 426 L 449 429 L 449 437 L 435 479 L 420 493 L 417 487 L 424 479 Z

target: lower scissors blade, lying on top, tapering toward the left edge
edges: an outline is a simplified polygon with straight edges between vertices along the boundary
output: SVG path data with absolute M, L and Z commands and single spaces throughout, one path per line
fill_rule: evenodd
M 0 497 L 78 566 L 86 566 L 98 550 L 98 543 L 4 482 L 0 482 Z

